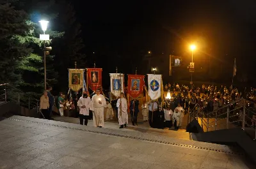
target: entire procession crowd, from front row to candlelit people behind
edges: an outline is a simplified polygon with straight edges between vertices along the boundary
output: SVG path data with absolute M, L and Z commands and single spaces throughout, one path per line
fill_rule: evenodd
M 97 89 L 92 99 L 85 91 L 80 96 L 77 93 L 74 96 L 71 94 L 71 97 L 60 92 L 59 96 L 54 98 L 51 94 L 52 87 L 48 87 L 40 99 L 40 109 L 45 119 L 52 119 L 52 108 L 55 105 L 61 116 L 65 115 L 65 110 L 67 110 L 66 112 L 73 111 L 75 116 L 80 118 L 80 124 L 87 125 L 88 119 L 93 119 L 93 126 L 99 128 L 104 127 L 104 120 L 116 118 L 120 128 L 125 128 L 128 124 L 128 112 L 131 115 L 132 125 L 137 126 L 138 113 L 141 110 L 143 121 L 148 121 L 150 127 L 171 128 L 174 126 L 175 129 L 179 129 L 184 114 L 192 110 L 196 104 L 200 105 L 204 113 L 207 114 L 237 98 L 243 97 L 251 101 L 256 99 L 256 89 L 253 88 L 250 91 L 245 88 L 244 91 L 239 92 L 236 87 L 227 88 L 222 85 L 219 88 L 214 85 L 208 87 L 191 85 L 189 88 L 186 85 L 171 85 L 169 83 L 164 86 L 164 89 L 172 93 L 170 98 L 166 97 L 164 101 L 161 99 L 146 101 L 143 98 L 143 104 L 139 108 L 138 99 L 133 98 L 127 103 L 125 93 L 121 93 L 120 97 L 111 102 L 100 94 L 100 89 Z M 256 119 L 256 117 L 252 115 L 252 119 Z M 255 126 L 254 121 L 252 124 Z

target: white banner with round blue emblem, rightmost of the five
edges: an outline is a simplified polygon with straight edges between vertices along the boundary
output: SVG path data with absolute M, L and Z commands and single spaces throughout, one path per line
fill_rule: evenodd
M 148 96 L 151 99 L 161 97 L 162 75 L 148 74 Z

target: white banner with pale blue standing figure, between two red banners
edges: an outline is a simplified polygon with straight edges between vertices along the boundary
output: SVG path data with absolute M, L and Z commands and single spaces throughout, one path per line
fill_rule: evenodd
M 110 91 L 118 97 L 120 92 L 124 92 L 124 74 L 122 73 L 109 73 L 110 76 Z

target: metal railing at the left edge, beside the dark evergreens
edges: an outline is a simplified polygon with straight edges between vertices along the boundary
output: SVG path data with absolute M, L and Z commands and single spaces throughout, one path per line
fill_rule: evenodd
M 29 110 L 36 109 L 36 113 L 40 113 L 40 100 L 35 99 L 30 94 L 20 91 L 16 87 L 9 84 L 0 84 L 0 105 L 14 101 L 22 107 Z

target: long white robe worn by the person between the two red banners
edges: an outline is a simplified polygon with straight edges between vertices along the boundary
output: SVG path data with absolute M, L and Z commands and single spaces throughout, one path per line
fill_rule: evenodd
M 116 107 L 118 108 L 118 122 L 119 125 L 128 124 L 127 101 L 122 98 L 122 111 L 120 111 L 120 99 L 117 100 Z

